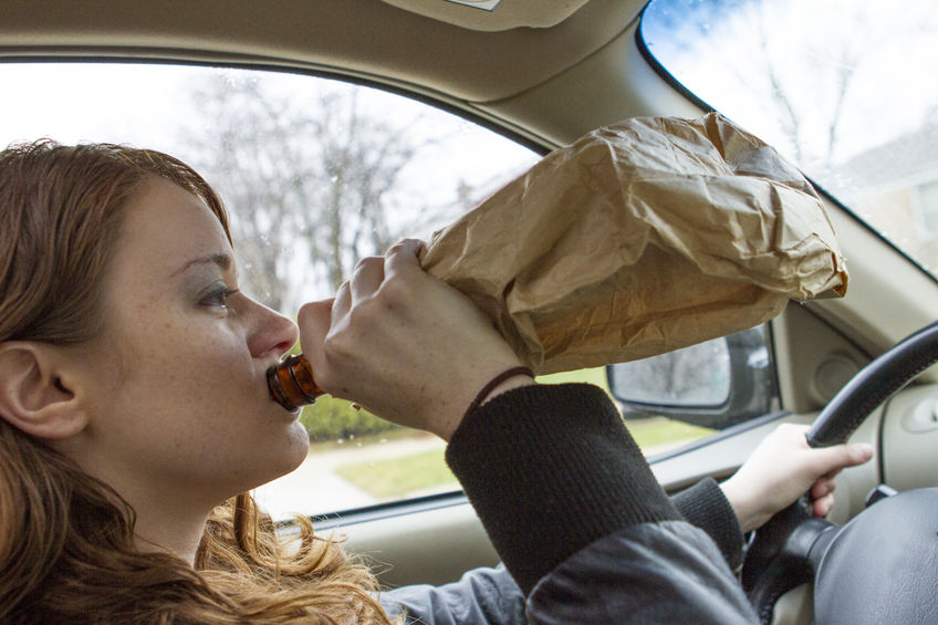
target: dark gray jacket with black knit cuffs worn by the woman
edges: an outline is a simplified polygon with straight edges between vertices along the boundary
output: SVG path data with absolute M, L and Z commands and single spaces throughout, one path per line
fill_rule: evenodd
M 595 387 L 499 396 L 467 416 L 447 460 L 504 564 L 383 593 L 408 625 L 758 623 L 716 482 L 668 500 Z

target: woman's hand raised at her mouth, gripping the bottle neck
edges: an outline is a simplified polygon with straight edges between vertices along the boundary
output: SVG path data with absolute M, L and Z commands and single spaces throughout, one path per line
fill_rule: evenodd
M 300 338 L 324 390 L 449 440 L 479 389 L 519 360 L 468 298 L 420 269 L 420 248 L 405 240 L 362 260 L 334 300 L 300 310 Z

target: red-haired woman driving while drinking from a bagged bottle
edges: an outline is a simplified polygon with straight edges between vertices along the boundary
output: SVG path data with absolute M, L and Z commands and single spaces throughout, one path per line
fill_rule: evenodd
M 362 262 L 335 301 L 304 306 L 303 347 L 333 395 L 451 440 L 448 460 L 510 575 L 390 593 L 388 610 L 442 623 L 448 608 L 434 602 L 468 598 L 508 623 L 530 595 L 535 622 L 602 621 L 597 605 L 637 618 L 650 607 L 663 621 L 691 604 L 700 622 L 752 618 L 608 400 L 585 385 L 500 377 L 515 356 L 419 269 L 418 249 L 405 241 Z M 269 399 L 264 381 L 298 331 L 238 291 L 225 211 L 201 177 L 149 150 L 10 148 L 0 261 L 0 622 L 389 622 L 365 566 L 308 522 L 300 549 L 281 549 L 243 494 L 308 450 L 298 415 Z M 857 449 L 804 451 L 783 504 L 814 483 L 825 511 L 833 482 L 822 476 L 868 457 Z M 764 498 L 738 483 L 746 524 Z M 656 576 L 623 593 L 649 553 L 656 570 L 698 582 Z M 608 555 L 633 572 L 605 576 Z M 562 598 L 559 587 L 584 591 L 569 585 L 582 574 L 611 582 L 598 603 Z M 508 593 L 502 603 L 479 598 L 482 579 Z

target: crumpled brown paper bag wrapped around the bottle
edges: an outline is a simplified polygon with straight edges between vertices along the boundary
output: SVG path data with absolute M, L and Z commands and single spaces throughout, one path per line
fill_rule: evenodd
M 420 260 L 540 374 L 731 334 L 847 285 L 811 184 L 715 113 L 594 131 L 436 232 Z

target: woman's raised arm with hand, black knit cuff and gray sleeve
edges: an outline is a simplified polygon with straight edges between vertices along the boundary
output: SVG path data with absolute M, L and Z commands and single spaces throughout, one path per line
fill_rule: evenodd
M 304 306 L 303 350 L 333 395 L 450 441 L 454 472 L 530 593 L 529 617 L 596 623 L 596 611 L 623 605 L 663 623 L 754 619 L 712 542 L 680 519 L 602 390 L 518 376 L 465 415 L 518 358 L 465 296 L 419 269 L 417 249 L 404 243 L 383 262 L 363 262 L 334 303 Z M 617 558 L 626 565 L 609 566 Z M 648 579 L 649 570 L 673 574 Z M 603 582 L 600 595 L 593 580 Z

